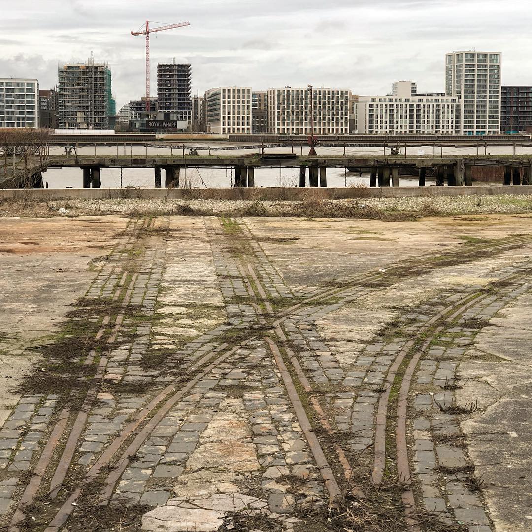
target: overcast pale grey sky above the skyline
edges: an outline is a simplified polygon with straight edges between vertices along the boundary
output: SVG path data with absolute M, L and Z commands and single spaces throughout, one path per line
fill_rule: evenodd
M 18 7 L 20 5 L 20 7 Z M 57 83 L 57 64 L 109 63 L 117 111 L 145 93 L 146 19 L 190 21 L 151 37 L 157 62 L 192 63 L 192 87 L 443 90 L 452 50 L 500 51 L 504 85 L 532 85 L 532 0 L 0 0 L 0 77 Z M 152 26 L 159 24 L 153 23 Z

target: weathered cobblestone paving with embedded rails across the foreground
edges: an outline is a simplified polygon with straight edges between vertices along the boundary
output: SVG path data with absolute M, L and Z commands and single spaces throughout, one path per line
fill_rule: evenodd
M 529 292 L 528 257 L 402 309 L 339 356 L 320 320 L 415 278 L 419 264 L 291 288 L 244 220 L 205 218 L 188 236 L 172 223 L 129 222 L 71 318 L 86 350 L 46 361 L 71 381 L 24 395 L 0 430 L 10 530 L 118 527 L 131 511 L 131 530 L 330 530 L 346 495 L 367 501 L 388 484 L 396 528 L 367 517 L 368 530 L 494 530 L 460 428 L 481 405 L 454 390 L 481 328 Z M 190 273 L 187 256 L 176 266 L 179 238 L 209 266 L 178 297 Z M 527 245 L 477 246 L 458 262 Z M 423 261 L 444 271 L 455 256 Z M 96 503 L 103 518 L 87 511 Z

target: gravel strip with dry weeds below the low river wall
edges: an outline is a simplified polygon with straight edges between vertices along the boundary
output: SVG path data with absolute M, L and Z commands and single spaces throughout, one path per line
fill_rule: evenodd
M 65 212 L 63 212 L 63 210 Z M 379 214 L 409 214 L 411 217 L 456 214 L 522 214 L 532 212 L 532 197 L 521 195 L 470 195 L 399 198 L 358 198 L 348 200 L 229 201 L 168 200 L 127 198 L 99 200 L 4 200 L 0 217 L 53 217 L 118 214 L 135 216 L 147 213 L 188 215 L 262 215 L 379 218 Z

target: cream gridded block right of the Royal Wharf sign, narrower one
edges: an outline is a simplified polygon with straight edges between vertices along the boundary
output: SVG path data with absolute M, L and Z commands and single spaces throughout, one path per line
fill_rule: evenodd
M 251 87 L 218 87 L 205 93 L 207 131 L 251 135 Z

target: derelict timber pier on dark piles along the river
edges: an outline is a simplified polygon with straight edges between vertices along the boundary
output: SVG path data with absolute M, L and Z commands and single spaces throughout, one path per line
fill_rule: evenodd
M 250 153 L 246 155 L 49 155 L 30 169 L 33 186 L 42 186 L 41 176 L 48 169 L 79 168 L 84 188 L 101 186 L 103 168 L 153 169 L 154 187 L 178 188 L 182 169 L 230 168 L 235 187 L 255 187 L 255 170 L 260 168 L 297 168 L 300 187 L 327 187 L 328 168 L 355 168 L 370 173 L 371 187 L 397 187 L 401 175 L 418 176 L 425 186 L 427 172 L 436 177 L 437 186 L 471 186 L 473 167 L 503 167 L 504 185 L 532 184 L 532 156 L 529 155 L 465 155 L 465 156 L 300 156 L 293 153 Z M 411 177 L 410 177 L 411 178 Z

